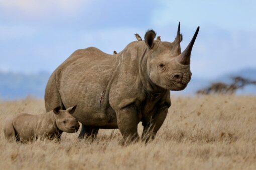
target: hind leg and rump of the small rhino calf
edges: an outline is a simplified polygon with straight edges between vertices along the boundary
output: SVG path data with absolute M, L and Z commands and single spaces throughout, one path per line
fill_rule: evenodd
M 8 140 L 20 141 L 19 134 L 17 133 L 14 125 L 13 119 L 7 119 L 4 125 L 4 134 Z

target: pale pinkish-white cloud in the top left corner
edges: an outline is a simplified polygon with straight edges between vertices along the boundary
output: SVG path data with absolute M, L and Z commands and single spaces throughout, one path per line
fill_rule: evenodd
M 56 15 L 76 15 L 88 0 L 0 0 L 0 9 L 16 17 L 38 18 Z

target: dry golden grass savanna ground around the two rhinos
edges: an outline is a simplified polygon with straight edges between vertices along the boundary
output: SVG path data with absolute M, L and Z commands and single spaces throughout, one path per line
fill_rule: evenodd
M 256 96 L 172 96 L 154 141 L 120 145 L 118 129 L 94 142 L 64 133 L 60 143 L 7 142 L 3 123 L 18 112 L 44 112 L 44 101 L 0 101 L 0 169 L 256 169 Z M 142 125 L 139 124 L 140 134 Z

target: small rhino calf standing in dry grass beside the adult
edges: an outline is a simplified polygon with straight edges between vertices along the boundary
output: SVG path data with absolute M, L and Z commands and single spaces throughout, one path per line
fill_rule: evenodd
M 53 110 L 42 114 L 21 113 L 9 118 L 4 125 L 4 133 L 8 140 L 30 141 L 37 138 L 57 138 L 63 131 L 76 132 L 79 123 L 72 114 L 76 105 L 66 110 L 55 107 Z

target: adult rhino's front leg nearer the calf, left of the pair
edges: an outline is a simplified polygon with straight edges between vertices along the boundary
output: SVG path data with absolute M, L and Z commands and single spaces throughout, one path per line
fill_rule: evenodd
M 140 138 L 138 134 L 138 109 L 134 106 L 128 106 L 116 111 L 116 114 L 117 126 L 122 134 L 124 143 L 138 141 Z

